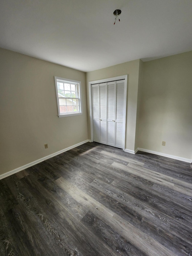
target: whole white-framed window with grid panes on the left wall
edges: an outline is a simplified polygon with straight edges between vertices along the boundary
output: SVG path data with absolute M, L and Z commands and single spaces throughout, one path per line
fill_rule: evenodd
M 80 115 L 81 112 L 81 82 L 55 77 L 58 116 Z

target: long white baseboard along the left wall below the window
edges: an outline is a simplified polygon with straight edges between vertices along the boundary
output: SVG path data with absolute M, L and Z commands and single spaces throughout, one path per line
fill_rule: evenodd
M 34 161 L 34 162 L 31 162 L 31 163 L 29 163 L 29 164 L 26 164 L 26 165 L 23 165 L 23 166 L 21 166 L 21 167 L 18 167 L 18 168 L 14 169 L 14 170 L 11 170 L 11 171 L 7 172 L 7 173 L 3 173 L 3 174 L 0 175 L 0 179 L 6 178 L 6 177 L 8 177 L 8 176 L 10 176 L 10 175 L 12 175 L 12 174 L 14 174 L 14 173 L 18 173 L 18 172 L 20 172 L 20 171 L 22 171 L 22 170 L 25 170 L 25 169 L 27 169 L 27 168 L 29 168 L 29 167 L 35 165 L 35 164 L 41 163 L 41 162 L 43 162 L 43 161 L 45 161 L 45 160 L 47 160 L 47 159 L 49 159 L 49 158 L 51 158 L 51 157 L 53 157 L 53 156 L 55 156 L 55 155 L 59 155 L 59 154 L 65 152 L 65 151 L 67 151 L 67 150 L 76 148 L 77 146 L 80 146 L 80 145 L 82 145 L 82 144 L 84 144 L 84 143 L 86 143 L 86 142 L 88 142 L 88 141 L 89 141 L 89 140 L 84 140 L 84 141 L 79 142 L 79 143 L 77 143 L 77 144 L 75 144 L 75 145 L 73 145 L 73 146 L 70 146 L 70 147 L 66 148 L 66 149 L 62 149 L 62 150 L 60 150 L 60 151 L 58 151 L 58 152 L 55 152 L 55 153 L 53 153 L 53 154 L 51 154 L 51 155 L 47 155 L 47 156 L 45 156 L 45 157 L 43 157 L 43 158 L 40 158 L 40 159 L 38 159 L 38 160 L 36 160 L 36 161 Z

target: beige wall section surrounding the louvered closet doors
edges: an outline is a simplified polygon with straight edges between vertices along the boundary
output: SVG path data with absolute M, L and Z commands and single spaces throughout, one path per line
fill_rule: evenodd
M 125 148 L 129 150 L 135 149 L 135 132 L 136 132 L 136 116 L 137 116 L 137 91 L 139 80 L 140 60 L 125 62 L 119 65 L 103 68 L 96 71 L 86 73 L 87 80 L 87 101 L 88 101 L 88 137 L 91 139 L 90 119 L 89 119 L 89 95 L 88 82 L 101 80 L 110 77 L 128 75 L 128 96 L 127 96 L 127 121 L 126 121 L 126 140 Z

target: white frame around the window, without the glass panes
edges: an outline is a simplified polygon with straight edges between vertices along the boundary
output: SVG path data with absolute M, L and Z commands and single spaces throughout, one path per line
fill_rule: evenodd
M 77 84 L 78 86 L 78 92 L 79 92 L 79 112 L 70 112 L 70 113 L 60 113 L 60 105 L 59 105 L 59 97 L 58 97 L 58 89 L 57 89 L 57 82 L 58 80 L 62 82 L 67 82 L 71 84 Z M 57 107 L 58 107 L 58 117 L 64 117 L 64 116 L 77 116 L 77 115 L 82 115 L 82 101 L 81 101 L 81 82 L 76 81 L 76 80 L 71 80 L 71 79 L 66 79 L 62 77 L 55 77 L 55 89 L 56 89 L 56 96 L 57 96 Z

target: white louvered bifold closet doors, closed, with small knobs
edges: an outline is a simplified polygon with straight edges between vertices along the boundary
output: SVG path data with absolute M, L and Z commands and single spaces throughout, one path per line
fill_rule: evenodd
M 93 140 L 123 148 L 125 80 L 92 84 Z

